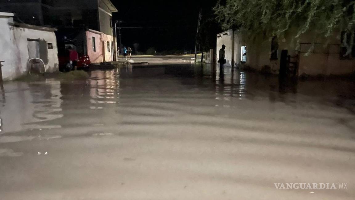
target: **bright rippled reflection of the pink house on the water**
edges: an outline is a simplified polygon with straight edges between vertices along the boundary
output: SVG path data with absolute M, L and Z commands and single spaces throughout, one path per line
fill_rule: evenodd
M 118 70 L 92 72 L 93 78 L 90 79 L 90 102 L 92 104 L 119 103 L 120 93 L 117 90 L 120 88 L 120 81 L 118 75 Z M 102 107 L 90 106 L 90 109 L 102 109 Z

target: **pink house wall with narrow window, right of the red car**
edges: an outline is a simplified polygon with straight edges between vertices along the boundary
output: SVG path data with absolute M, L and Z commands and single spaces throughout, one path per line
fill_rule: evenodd
M 95 37 L 96 51 L 93 50 L 92 37 Z M 101 34 L 86 31 L 87 51 L 92 63 L 100 63 L 103 60 Z

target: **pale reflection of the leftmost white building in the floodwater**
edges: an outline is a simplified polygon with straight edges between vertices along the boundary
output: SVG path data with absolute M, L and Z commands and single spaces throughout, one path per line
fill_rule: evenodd
M 1 107 L 2 131 L 12 132 L 35 128 L 59 128 L 42 122 L 63 117 L 60 81 L 41 83 L 11 82 L 6 84 L 5 96 L 11 101 Z

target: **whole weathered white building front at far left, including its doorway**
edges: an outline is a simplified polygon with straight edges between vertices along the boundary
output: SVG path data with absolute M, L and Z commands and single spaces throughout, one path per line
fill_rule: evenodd
M 56 29 L 16 23 L 13 17 L 12 13 L 0 12 L 2 78 L 11 80 L 27 73 L 31 58 L 42 60 L 45 72 L 57 71 Z

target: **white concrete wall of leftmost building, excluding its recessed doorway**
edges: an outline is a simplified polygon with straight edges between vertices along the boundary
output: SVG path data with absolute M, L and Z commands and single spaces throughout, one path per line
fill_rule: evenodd
M 27 72 L 29 59 L 27 39 L 42 40 L 53 44 L 53 49 L 46 47 L 48 62 L 45 62 L 45 69 L 46 72 L 57 71 L 58 48 L 54 32 L 13 26 L 11 25 L 13 19 L 11 16 L 6 16 L 8 14 L 0 13 L 0 60 L 5 61 L 2 63 L 4 80 L 14 79 Z

